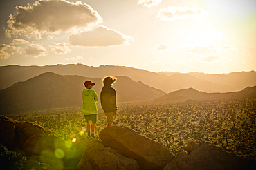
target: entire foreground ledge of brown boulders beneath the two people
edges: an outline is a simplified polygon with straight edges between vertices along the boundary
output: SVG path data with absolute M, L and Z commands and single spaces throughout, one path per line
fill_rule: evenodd
M 160 143 L 127 127 L 107 127 L 100 139 L 77 138 L 75 143 L 40 125 L 0 116 L 0 143 L 28 158 L 24 169 L 256 169 L 247 160 L 203 140 L 181 147 L 176 157 Z

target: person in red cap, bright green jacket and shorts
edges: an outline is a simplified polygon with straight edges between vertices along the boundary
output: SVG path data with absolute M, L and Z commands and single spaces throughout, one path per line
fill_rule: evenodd
M 95 85 L 95 83 L 91 81 L 84 82 L 85 89 L 82 91 L 82 114 L 84 114 L 87 122 L 88 136 L 95 138 L 95 124 L 98 114 L 96 103 L 98 102 L 98 95 L 92 89 L 93 85 Z

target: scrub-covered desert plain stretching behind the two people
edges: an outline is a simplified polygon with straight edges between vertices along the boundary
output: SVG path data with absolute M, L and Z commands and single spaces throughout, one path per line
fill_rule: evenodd
M 46 109 L 8 117 L 32 121 L 51 129 L 65 140 L 86 138 L 86 122 L 80 107 Z M 176 155 L 194 139 L 203 139 L 226 151 L 256 158 L 256 99 L 185 103 L 118 103 L 114 125 L 129 127 L 138 134 L 161 142 Z M 99 107 L 96 138 L 107 126 Z

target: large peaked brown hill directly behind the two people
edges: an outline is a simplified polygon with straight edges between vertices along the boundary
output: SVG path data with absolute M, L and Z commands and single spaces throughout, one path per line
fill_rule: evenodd
M 113 85 L 117 92 L 118 102 L 148 100 L 163 96 L 165 92 L 149 87 L 131 78 L 117 76 Z M 61 76 L 46 72 L 18 82 L 0 91 L 1 114 L 19 111 L 31 111 L 56 107 L 82 106 L 81 92 L 84 81 L 95 82 L 93 87 L 100 98 L 103 87 L 101 78 L 85 78 L 82 76 Z

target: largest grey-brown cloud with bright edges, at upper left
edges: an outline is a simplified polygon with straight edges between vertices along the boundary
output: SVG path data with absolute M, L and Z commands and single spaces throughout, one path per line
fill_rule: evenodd
M 44 33 L 68 32 L 72 29 L 90 29 L 102 22 L 91 6 L 77 1 L 36 1 L 26 7 L 17 6 L 16 14 L 10 15 L 6 36 L 35 36 Z

